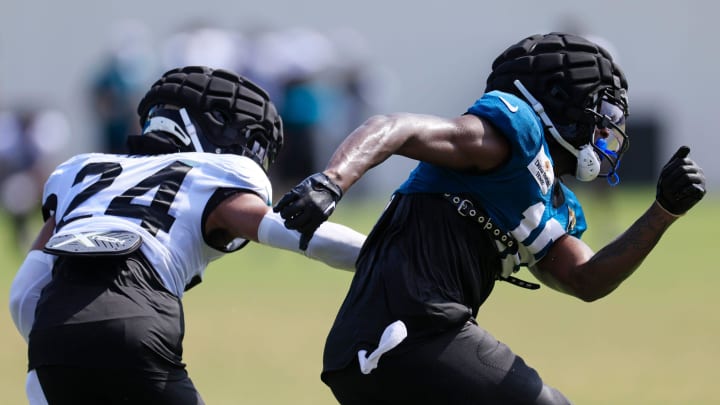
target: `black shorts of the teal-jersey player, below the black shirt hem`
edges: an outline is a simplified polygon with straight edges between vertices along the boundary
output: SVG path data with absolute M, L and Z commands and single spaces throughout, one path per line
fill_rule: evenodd
M 355 360 L 343 370 L 324 372 L 322 380 L 343 405 L 570 403 L 508 346 L 471 322 L 398 346 L 370 374 L 362 374 Z

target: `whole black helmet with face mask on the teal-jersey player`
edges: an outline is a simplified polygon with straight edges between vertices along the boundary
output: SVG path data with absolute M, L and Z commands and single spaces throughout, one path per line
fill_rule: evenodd
M 578 179 L 599 175 L 617 181 L 616 170 L 629 146 L 627 89 L 625 75 L 604 48 L 577 35 L 552 32 L 503 51 L 492 64 L 485 91 L 526 99 L 550 135 L 578 157 Z

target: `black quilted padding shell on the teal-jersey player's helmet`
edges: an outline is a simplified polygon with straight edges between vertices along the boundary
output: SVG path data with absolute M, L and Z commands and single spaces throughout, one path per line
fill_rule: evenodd
M 501 90 L 524 98 L 520 80 L 542 104 L 563 138 L 575 148 L 591 141 L 595 117 L 587 112 L 599 97 L 627 115 L 627 80 L 601 46 L 577 35 L 533 35 L 510 46 L 492 64 L 485 91 Z

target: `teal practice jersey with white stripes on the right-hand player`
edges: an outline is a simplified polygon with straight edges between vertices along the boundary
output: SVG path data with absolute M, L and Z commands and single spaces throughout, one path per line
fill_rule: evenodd
M 493 221 L 520 242 L 522 265 L 540 260 L 564 234 L 580 238 L 587 225 L 575 194 L 555 178 L 540 118 L 521 98 L 484 94 L 468 110 L 508 139 L 510 159 L 487 174 L 471 174 L 420 162 L 397 192 L 469 195 Z

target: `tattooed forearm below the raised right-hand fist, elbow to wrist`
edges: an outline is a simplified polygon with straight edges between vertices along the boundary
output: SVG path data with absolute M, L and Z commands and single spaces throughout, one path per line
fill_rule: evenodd
M 593 301 L 615 290 L 637 270 L 676 219 L 654 203 L 627 231 L 579 267 L 576 295 Z

